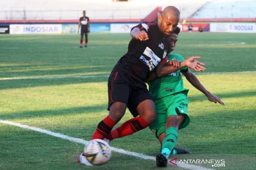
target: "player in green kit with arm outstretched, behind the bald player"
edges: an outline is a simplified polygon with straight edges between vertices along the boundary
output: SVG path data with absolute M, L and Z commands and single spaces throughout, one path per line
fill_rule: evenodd
M 169 37 L 171 51 L 173 51 L 176 46 L 179 33 L 180 28 L 177 27 L 171 37 Z M 184 59 L 179 54 L 170 53 L 168 60 L 169 65 L 180 67 L 180 62 Z M 164 68 L 164 66 L 162 67 Z M 167 166 L 167 160 L 170 154 L 189 153 L 186 149 L 174 148 L 177 143 L 178 130 L 185 128 L 190 122 L 190 117 L 187 112 L 188 89 L 184 88 L 180 73 L 186 77 L 191 85 L 204 93 L 209 101 L 225 105 L 219 97 L 207 91 L 187 67 L 183 67 L 172 73 L 168 72 L 168 69 L 163 69 L 162 75 L 165 76 L 161 78 L 157 78 L 155 72 L 150 73 L 147 82 L 149 92 L 156 104 L 157 117 L 155 122 L 149 125 L 149 128 L 156 134 L 156 137 L 162 145 L 161 153 L 156 156 L 156 166 L 158 167 Z

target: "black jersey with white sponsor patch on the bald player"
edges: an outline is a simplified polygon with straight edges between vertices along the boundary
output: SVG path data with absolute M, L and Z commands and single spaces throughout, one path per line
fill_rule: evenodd
M 168 38 L 162 35 L 156 22 L 143 22 L 133 28 L 148 33 L 147 41 L 132 39 L 128 52 L 120 58 L 112 71 L 121 71 L 139 81 L 145 81 L 161 60 L 167 61 L 170 51 Z M 133 29 L 132 28 L 132 29 Z

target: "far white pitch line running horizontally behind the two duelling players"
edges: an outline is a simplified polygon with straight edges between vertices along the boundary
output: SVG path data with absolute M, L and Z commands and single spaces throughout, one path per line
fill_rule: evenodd
M 236 73 L 256 73 L 256 71 L 236 71 L 236 72 L 196 72 L 194 74 L 236 74 Z M 26 79 L 53 79 L 53 78 L 96 78 L 109 77 L 109 75 L 101 76 L 58 76 L 58 77 L 28 77 L 28 78 L 0 78 L 0 80 L 26 80 Z

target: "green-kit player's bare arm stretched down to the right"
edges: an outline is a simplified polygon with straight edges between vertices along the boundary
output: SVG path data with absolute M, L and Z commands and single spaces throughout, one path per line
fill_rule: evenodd
M 199 90 L 200 92 L 204 93 L 204 95 L 208 98 L 209 101 L 212 101 L 214 103 L 218 102 L 221 105 L 225 105 L 225 103 L 221 101 L 218 96 L 215 96 L 211 92 L 207 91 L 204 88 L 204 86 L 200 83 L 196 75 L 193 74 L 190 70 L 188 70 L 187 72 L 181 72 L 181 73 L 186 77 L 186 79 L 191 85 L 196 87 L 196 89 Z

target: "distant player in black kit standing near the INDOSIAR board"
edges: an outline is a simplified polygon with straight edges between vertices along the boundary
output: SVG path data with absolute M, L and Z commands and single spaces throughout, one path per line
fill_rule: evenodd
M 89 17 L 85 16 L 85 11 L 83 11 L 83 17 L 79 19 L 78 23 L 78 31 L 79 33 L 79 28 L 81 25 L 81 39 L 80 39 L 80 48 L 83 48 L 83 38 L 85 34 L 85 44 L 84 47 L 87 47 L 87 42 L 88 42 L 88 33 L 90 33 L 90 22 L 89 22 Z

